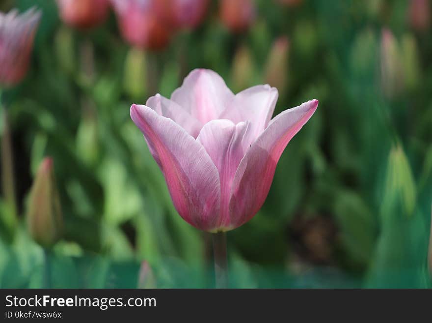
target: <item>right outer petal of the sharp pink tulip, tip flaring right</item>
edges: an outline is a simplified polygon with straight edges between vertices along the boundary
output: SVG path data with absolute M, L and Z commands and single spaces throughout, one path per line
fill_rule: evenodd
M 246 152 L 231 188 L 230 229 L 249 221 L 264 204 L 280 155 L 317 106 L 312 100 L 280 113 Z

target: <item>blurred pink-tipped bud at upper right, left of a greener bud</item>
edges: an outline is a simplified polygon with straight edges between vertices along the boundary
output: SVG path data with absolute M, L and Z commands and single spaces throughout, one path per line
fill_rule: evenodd
M 399 45 L 389 29 L 382 30 L 381 87 L 387 98 L 393 98 L 404 87 Z

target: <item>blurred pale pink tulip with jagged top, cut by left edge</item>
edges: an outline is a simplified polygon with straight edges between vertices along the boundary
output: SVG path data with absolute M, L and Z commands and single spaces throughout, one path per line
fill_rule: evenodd
M 0 12 L 0 85 L 15 85 L 26 75 L 40 16 L 33 8 L 21 15 Z

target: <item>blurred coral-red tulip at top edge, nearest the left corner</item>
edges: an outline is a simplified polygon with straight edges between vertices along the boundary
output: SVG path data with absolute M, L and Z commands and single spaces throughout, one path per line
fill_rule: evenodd
M 57 0 L 61 19 L 76 28 L 92 28 L 108 16 L 109 0 Z

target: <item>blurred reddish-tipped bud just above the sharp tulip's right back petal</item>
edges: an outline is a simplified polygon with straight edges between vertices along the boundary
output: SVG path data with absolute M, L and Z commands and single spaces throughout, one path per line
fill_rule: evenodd
M 283 92 L 287 85 L 288 50 L 290 43 L 287 37 L 276 39 L 267 58 L 265 82 Z

